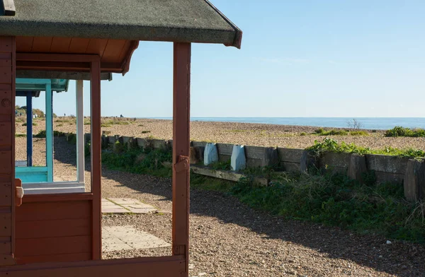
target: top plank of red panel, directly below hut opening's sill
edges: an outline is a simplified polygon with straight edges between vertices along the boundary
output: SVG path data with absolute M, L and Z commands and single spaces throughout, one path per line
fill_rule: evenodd
M 25 199 L 26 196 L 23 196 Z M 16 222 L 91 218 L 90 201 L 48 202 L 24 204 L 16 208 Z

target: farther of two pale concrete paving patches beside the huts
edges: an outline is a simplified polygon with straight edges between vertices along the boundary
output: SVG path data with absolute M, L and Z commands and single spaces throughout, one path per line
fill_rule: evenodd
M 137 199 L 108 198 L 102 199 L 102 213 L 154 213 L 157 208 L 144 204 Z

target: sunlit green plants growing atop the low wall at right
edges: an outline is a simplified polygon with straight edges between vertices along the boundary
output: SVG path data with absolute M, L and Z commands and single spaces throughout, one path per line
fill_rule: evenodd
M 306 148 L 305 150 L 310 151 L 312 155 L 320 157 L 326 152 L 335 153 L 357 153 L 357 154 L 380 154 L 380 155 L 395 155 L 403 158 L 425 158 L 425 151 L 420 149 L 397 149 L 390 146 L 380 150 L 372 150 L 361 146 L 356 146 L 353 143 L 347 144 L 341 142 L 338 143 L 334 139 L 326 138 L 322 142 L 314 141 L 314 145 Z

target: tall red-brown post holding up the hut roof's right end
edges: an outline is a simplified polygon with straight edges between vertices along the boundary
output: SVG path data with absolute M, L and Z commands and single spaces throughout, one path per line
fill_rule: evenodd
M 173 73 L 173 255 L 189 257 L 189 155 L 191 44 L 174 43 Z

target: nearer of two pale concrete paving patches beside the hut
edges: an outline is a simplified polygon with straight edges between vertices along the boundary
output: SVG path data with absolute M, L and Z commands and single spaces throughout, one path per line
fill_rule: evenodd
M 104 226 L 102 248 L 104 252 L 169 247 L 171 244 L 134 228 L 134 226 Z

